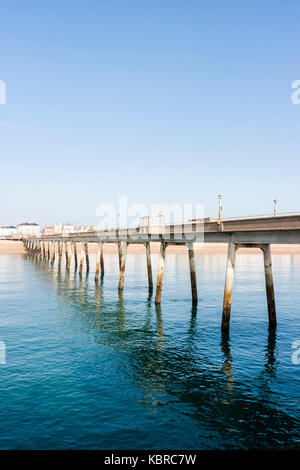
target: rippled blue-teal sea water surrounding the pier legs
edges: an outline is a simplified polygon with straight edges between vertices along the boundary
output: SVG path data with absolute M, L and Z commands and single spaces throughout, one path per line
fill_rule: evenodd
M 237 255 L 229 335 L 225 256 L 197 255 L 197 308 L 186 255 L 167 255 L 160 308 L 145 256 L 127 258 L 119 296 L 116 255 L 98 284 L 93 258 L 80 279 L 0 255 L 0 448 L 299 449 L 300 256 L 273 257 L 269 330 L 262 259 Z

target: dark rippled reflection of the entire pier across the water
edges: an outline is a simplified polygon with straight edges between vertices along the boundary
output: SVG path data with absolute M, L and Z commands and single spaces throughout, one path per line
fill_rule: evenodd
M 229 332 L 215 330 L 207 337 L 208 325 L 199 321 L 199 305 L 188 306 L 186 324 L 178 332 L 170 331 L 168 307 L 155 305 L 152 292 L 136 301 L 138 294 L 130 296 L 126 288 L 118 293 L 117 282 L 110 289 L 105 281 L 103 289 L 103 282 L 95 283 L 88 276 L 59 271 L 38 259 L 34 262 L 71 307 L 76 327 L 118 355 L 122 372 L 134 382 L 136 401 L 150 416 L 173 400 L 198 425 L 205 423 L 216 433 L 225 433 L 229 444 L 243 436 L 249 445 L 257 446 L 258 433 L 264 435 L 266 429 L 269 442 L 274 443 L 278 426 L 286 442 L 293 439 L 296 420 L 272 407 L 271 384 L 278 368 L 274 328 L 265 340 L 262 369 L 250 371 L 247 382 L 237 379 Z M 182 308 L 184 314 L 186 304 Z

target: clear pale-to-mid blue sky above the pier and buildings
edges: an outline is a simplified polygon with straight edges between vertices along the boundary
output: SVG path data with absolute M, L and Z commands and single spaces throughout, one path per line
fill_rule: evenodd
M 300 210 L 300 3 L 1 3 L 0 225 L 116 202 Z

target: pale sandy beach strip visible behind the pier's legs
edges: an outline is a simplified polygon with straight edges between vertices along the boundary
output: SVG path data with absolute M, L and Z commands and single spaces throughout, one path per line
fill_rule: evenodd
M 89 253 L 97 253 L 97 244 L 89 243 Z M 198 246 L 197 246 L 198 245 Z M 160 244 L 151 243 L 151 253 L 159 253 Z M 196 254 L 227 254 L 227 243 L 207 243 L 204 246 L 194 244 Z M 105 243 L 103 246 L 104 253 L 118 253 L 118 247 L 115 243 Z M 128 253 L 145 253 L 144 245 L 132 244 L 128 246 Z M 300 245 L 271 245 L 273 255 L 300 255 Z M 1 254 L 25 254 L 23 242 L 15 240 L 0 240 Z M 184 246 L 171 245 L 167 248 L 167 253 L 186 254 L 187 248 Z M 240 248 L 238 254 L 260 254 L 258 248 Z

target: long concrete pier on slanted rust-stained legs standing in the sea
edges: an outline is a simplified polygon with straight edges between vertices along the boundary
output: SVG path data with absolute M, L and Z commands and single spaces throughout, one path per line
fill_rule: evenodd
M 74 258 L 74 269 L 78 269 L 82 276 L 85 264 L 89 272 L 88 243 L 97 243 L 95 281 L 104 276 L 103 245 L 114 243 L 119 254 L 119 284 L 120 292 L 124 289 L 126 255 L 129 244 L 142 244 L 145 246 L 146 266 L 148 274 L 148 288 L 153 290 L 151 242 L 160 243 L 159 265 L 156 280 L 155 303 L 161 303 L 165 256 L 170 245 L 183 245 L 187 248 L 191 281 L 191 297 L 193 304 L 198 301 L 197 279 L 194 243 L 227 243 L 227 267 L 225 274 L 225 287 L 222 311 L 222 330 L 230 326 L 231 303 L 234 283 L 235 257 L 239 248 L 259 248 L 264 258 L 265 287 L 268 308 L 269 325 L 274 327 L 277 323 L 276 304 L 272 273 L 272 244 L 300 244 L 300 215 L 283 215 L 270 217 L 254 217 L 225 219 L 223 221 L 195 221 L 191 223 L 170 225 L 162 233 L 143 233 L 138 228 L 118 230 L 102 230 L 90 232 L 71 233 L 68 236 L 47 235 L 43 237 L 24 238 L 23 242 L 27 253 L 40 256 L 46 263 L 54 263 L 57 256 L 58 265 L 61 265 L 63 252 L 65 253 L 67 270 L 70 270 L 71 259 Z M 78 252 L 78 243 L 80 251 Z

